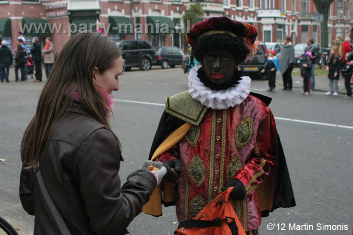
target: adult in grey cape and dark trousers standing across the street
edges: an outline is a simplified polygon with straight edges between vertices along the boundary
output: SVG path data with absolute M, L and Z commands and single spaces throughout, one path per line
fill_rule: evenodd
M 294 64 L 296 63 L 296 57 L 294 56 L 294 47 L 291 39 L 285 36 L 283 39 L 283 45 L 281 46 L 281 53 L 279 55 L 279 70 L 283 79 L 283 89 L 285 91 L 291 91 L 292 89 L 292 78 L 291 72 Z

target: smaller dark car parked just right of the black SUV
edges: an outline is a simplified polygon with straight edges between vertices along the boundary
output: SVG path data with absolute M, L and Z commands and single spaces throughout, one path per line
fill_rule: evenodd
M 162 46 L 157 48 L 157 63 L 162 69 L 174 68 L 176 65 L 182 65 L 184 52 L 176 46 Z

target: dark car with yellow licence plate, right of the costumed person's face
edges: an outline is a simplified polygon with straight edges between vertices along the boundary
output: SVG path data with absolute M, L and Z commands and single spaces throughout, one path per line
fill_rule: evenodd
M 261 77 L 260 71 L 265 68 L 265 63 L 267 61 L 268 52 L 267 47 L 264 42 L 260 42 L 257 54 L 253 57 L 251 61 L 244 62 L 240 69 L 244 76 L 250 76 L 251 78 Z

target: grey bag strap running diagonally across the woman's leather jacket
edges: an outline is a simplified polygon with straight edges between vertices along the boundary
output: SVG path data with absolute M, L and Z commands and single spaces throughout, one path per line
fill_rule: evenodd
M 57 211 L 54 203 L 52 202 L 48 191 L 46 190 L 46 187 L 43 182 L 42 175 L 40 174 L 40 169 L 39 169 L 39 161 L 37 164 L 34 165 L 33 170 L 35 172 L 35 175 L 37 177 L 38 183 L 40 190 L 42 191 L 42 194 L 45 198 L 46 204 L 48 205 L 52 215 L 54 216 L 54 219 L 56 221 L 56 224 L 60 228 L 60 231 L 62 232 L 63 235 L 71 235 L 69 228 L 66 226 L 63 217 L 60 215 L 60 213 Z

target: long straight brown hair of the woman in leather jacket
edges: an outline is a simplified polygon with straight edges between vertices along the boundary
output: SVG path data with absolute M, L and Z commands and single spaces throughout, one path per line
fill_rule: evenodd
M 36 114 L 29 123 L 22 140 L 24 168 L 31 169 L 42 161 L 56 122 L 73 105 L 78 92 L 82 107 L 102 125 L 110 128 L 111 108 L 104 95 L 93 84 L 93 69 L 103 74 L 122 54 L 119 47 L 97 32 L 77 33 L 64 45 L 51 75 L 40 95 Z M 121 144 L 114 135 L 119 151 Z

